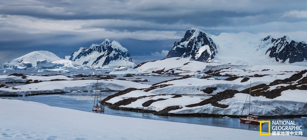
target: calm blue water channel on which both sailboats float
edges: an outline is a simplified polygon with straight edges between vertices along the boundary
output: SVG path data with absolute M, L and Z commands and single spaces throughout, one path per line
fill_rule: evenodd
M 103 98 L 108 95 L 112 95 L 115 92 L 103 92 Z M 95 93 L 86 92 L 86 93 L 66 93 L 66 94 L 53 94 L 53 95 L 36 95 L 36 96 L 27 96 L 27 97 L 1 97 L 1 98 L 11 98 L 18 100 L 29 100 L 35 101 L 43 104 L 48 104 L 50 106 L 62 107 L 62 108 L 71 108 L 81 111 L 102 113 L 108 115 L 116 115 L 123 117 L 135 117 L 142 119 L 153 119 L 161 121 L 173 121 L 181 123 L 190 123 L 198 125 L 210 125 L 217 127 L 227 127 L 235 129 L 246 129 L 259 131 L 260 125 L 253 125 L 247 123 L 240 123 L 238 118 L 220 118 L 220 117 L 176 117 L 176 116 L 156 116 L 151 113 L 141 113 L 141 112 L 130 112 L 122 110 L 114 110 L 110 108 L 105 108 L 104 112 L 92 111 L 93 100 Z M 307 137 L 307 118 L 289 118 L 289 119 L 265 119 L 269 121 L 295 121 L 296 125 L 300 125 L 303 128 L 303 136 Z M 272 124 L 271 124 L 272 126 Z M 268 125 L 262 125 L 262 131 L 268 132 Z M 273 130 L 271 129 L 271 132 Z

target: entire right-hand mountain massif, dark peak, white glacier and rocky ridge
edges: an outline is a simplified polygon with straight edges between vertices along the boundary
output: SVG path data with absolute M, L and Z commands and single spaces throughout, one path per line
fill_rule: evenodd
M 248 65 L 276 65 L 306 62 L 307 44 L 284 36 L 261 38 L 248 32 L 207 35 L 200 29 L 190 28 L 165 58 L 192 58 L 201 62 L 224 62 Z M 273 62 L 273 63 L 272 63 Z M 305 64 L 295 64 L 305 65 Z

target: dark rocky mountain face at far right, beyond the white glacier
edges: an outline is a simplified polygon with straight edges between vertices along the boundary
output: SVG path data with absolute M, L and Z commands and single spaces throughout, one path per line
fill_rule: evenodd
M 269 36 L 268 36 L 269 37 Z M 275 58 L 277 62 L 286 62 L 289 59 L 289 63 L 302 62 L 307 59 L 307 44 L 305 42 L 295 42 L 290 40 L 287 36 L 283 36 L 278 39 L 268 40 L 268 37 L 264 41 L 270 41 L 273 46 L 270 47 L 265 54 L 269 54 L 269 57 Z

